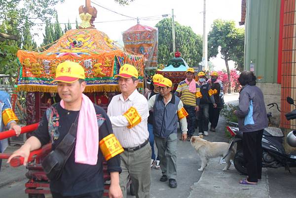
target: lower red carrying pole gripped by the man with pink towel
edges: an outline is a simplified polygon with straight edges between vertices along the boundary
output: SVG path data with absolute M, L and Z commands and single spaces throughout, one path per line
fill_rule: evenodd
M 44 145 L 41 149 L 31 151 L 28 162 L 35 160 L 36 158 L 40 158 L 42 156 L 47 155 L 51 151 L 51 143 Z M 24 164 L 23 157 L 14 157 L 10 160 L 10 165 L 12 167 L 18 167 Z

